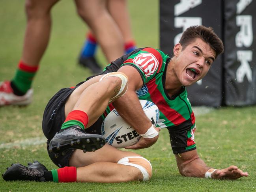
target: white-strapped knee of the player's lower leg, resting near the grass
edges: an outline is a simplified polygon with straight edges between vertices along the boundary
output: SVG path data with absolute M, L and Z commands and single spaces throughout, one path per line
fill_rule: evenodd
M 128 177 L 129 181 L 148 181 L 152 176 L 151 163 L 144 157 L 124 157 L 118 161 L 118 164 L 136 168 L 136 171 L 133 171 L 133 174 Z

